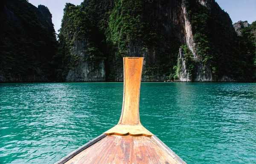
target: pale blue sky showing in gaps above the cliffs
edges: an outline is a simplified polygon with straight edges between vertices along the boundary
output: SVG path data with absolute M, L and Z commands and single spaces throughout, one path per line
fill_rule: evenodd
M 83 0 L 29 0 L 34 6 L 47 6 L 52 13 L 52 23 L 55 31 L 61 28 L 63 9 L 66 3 L 80 5 Z M 233 23 L 239 20 L 247 20 L 248 23 L 256 21 L 256 0 L 215 0 L 226 11 Z

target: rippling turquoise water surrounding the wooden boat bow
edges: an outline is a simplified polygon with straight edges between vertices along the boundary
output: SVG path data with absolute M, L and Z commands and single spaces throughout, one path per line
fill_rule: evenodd
M 0 84 L 0 163 L 54 163 L 99 136 L 122 85 Z M 256 164 L 256 83 L 142 83 L 140 119 L 187 163 Z

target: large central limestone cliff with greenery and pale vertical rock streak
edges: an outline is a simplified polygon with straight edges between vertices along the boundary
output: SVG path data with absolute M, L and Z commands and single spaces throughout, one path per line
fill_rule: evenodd
M 122 57 L 144 57 L 147 82 L 251 80 L 247 43 L 215 0 L 84 0 L 64 11 L 67 81 L 122 81 Z

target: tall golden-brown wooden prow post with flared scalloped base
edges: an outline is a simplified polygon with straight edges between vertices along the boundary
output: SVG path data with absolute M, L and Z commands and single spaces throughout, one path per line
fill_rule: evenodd
M 140 81 L 143 57 L 124 57 L 124 95 L 118 124 L 106 131 L 107 135 L 152 136 L 140 123 Z

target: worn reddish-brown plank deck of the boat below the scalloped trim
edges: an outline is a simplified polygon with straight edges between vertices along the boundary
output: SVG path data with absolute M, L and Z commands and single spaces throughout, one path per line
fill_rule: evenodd
M 106 136 L 66 164 L 185 164 L 164 150 L 154 138 Z

